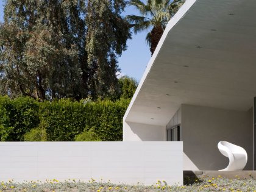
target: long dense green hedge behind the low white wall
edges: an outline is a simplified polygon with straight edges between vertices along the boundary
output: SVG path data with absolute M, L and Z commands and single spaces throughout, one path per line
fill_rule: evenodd
M 26 138 L 34 138 L 29 134 L 35 135 L 32 129 L 39 129 L 46 132 L 48 141 L 74 141 L 76 135 L 88 130 L 93 130 L 102 141 L 121 141 L 123 115 L 129 102 L 37 102 L 30 98 L 0 97 L 0 140 L 24 141 L 25 134 Z

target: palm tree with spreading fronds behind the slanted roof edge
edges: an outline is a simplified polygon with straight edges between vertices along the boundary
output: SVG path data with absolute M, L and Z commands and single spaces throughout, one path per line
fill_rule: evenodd
M 146 36 L 146 41 L 150 46 L 151 55 L 157 48 L 158 41 L 163 35 L 166 24 L 172 16 L 179 10 L 185 0 L 148 0 L 146 4 L 140 0 L 130 0 L 129 4 L 135 6 L 140 11 L 138 15 L 128 15 L 126 18 L 133 27 L 135 34 L 141 30 L 152 27 Z

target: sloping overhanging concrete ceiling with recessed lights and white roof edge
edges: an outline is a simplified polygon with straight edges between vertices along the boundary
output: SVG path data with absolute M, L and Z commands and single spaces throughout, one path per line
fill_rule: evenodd
M 124 119 L 165 126 L 181 104 L 249 110 L 256 96 L 255 10 L 255 0 L 187 0 Z

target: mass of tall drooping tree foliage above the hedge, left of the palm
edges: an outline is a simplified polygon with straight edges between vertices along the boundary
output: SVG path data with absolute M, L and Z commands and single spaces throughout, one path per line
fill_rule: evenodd
M 8 0 L 0 25 L 0 94 L 111 98 L 126 50 L 124 0 Z

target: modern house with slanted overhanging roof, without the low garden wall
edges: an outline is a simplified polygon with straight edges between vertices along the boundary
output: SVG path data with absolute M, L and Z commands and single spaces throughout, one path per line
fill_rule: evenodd
M 183 170 L 255 169 L 256 1 L 187 0 L 169 21 L 124 115 L 124 141 L 183 141 Z

